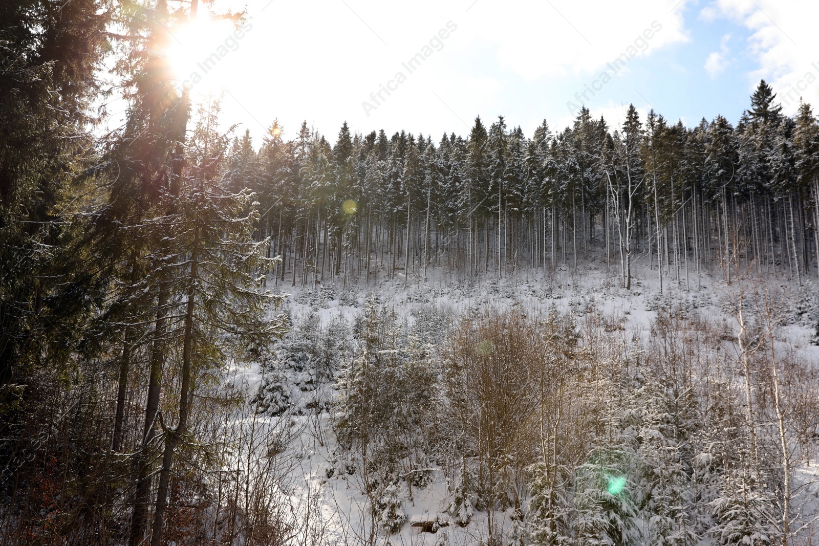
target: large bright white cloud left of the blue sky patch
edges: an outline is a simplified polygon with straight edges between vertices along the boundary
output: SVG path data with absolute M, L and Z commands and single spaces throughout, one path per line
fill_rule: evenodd
M 247 2 L 253 25 L 229 59 L 224 119 L 243 120 L 260 135 L 278 117 L 287 138 L 305 117 L 335 138 L 345 120 L 362 131 L 440 134 L 465 133 L 459 118 L 472 124 L 478 112 L 518 110 L 521 122 L 551 116 L 536 89 L 563 93 L 555 90 L 562 76 L 586 79 L 623 52 L 646 56 L 689 39 L 683 13 L 690 0 L 673 11 L 677 0 L 273 0 L 268 7 L 269 0 L 219 0 L 219 9 L 230 7 L 224 2 L 239 10 Z M 367 116 L 361 103 L 450 20 L 458 28 L 441 51 Z M 662 28 L 645 38 L 654 21 Z M 567 99 L 557 101 L 560 115 Z

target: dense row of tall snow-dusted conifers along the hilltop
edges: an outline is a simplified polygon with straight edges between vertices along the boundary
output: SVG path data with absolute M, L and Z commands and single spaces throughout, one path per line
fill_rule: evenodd
M 233 141 L 236 187 L 266 211 L 260 233 L 292 286 L 341 277 L 427 277 L 444 266 L 503 277 L 577 266 L 591 250 L 622 271 L 645 255 L 662 286 L 699 287 L 735 250 L 759 272 L 801 282 L 819 255 L 819 130 L 809 105 L 786 116 L 762 81 L 736 126 L 687 128 L 632 105 L 610 128 L 583 108 L 531 138 L 503 116 L 439 141 L 342 126 L 335 144 L 306 123 L 274 123 L 259 151 Z M 378 276 L 382 274 L 382 277 Z

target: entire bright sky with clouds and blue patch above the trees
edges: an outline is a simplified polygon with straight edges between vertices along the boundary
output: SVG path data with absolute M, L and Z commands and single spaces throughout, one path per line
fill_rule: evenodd
M 334 142 L 351 130 L 466 135 L 504 115 L 531 135 L 581 105 L 622 123 L 634 104 L 695 125 L 749 106 L 760 79 L 792 113 L 819 105 L 819 2 L 808 0 L 215 0 L 243 29 L 174 29 L 195 102 L 221 93 L 223 124 L 256 145 L 278 120 Z M 206 62 L 210 59 L 210 62 Z M 415 59 L 413 63 L 410 60 Z M 615 61 L 618 60 L 615 64 Z M 815 63 L 815 64 L 814 64 Z M 379 93 L 380 92 L 380 97 Z

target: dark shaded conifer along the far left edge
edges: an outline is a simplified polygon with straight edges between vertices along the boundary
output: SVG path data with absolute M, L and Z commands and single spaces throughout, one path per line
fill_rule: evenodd
M 67 258 L 87 241 L 64 205 L 92 189 L 82 184 L 97 160 L 89 108 L 113 16 L 100 0 L 0 7 L 0 413 L 30 373 L 67 365 L 98 297 L 84 264 Z

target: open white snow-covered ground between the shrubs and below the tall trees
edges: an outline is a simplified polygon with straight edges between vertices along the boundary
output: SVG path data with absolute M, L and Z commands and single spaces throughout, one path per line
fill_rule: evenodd
M 713 324 L 722 323 L 728 331 L 735 331 L 735 318 L 727 304 L 729 288 L 721 273 L 703 272 L 697 279 L 697 273 L 689 271 L 690 282 L 695 286 L 691 289 L 687 289 L 684 282 L 677 286 L 676 281 L 663 279 L 663 293 L 656 270 L 650 270 L 639 261 L 634 267 L 631 291 L 621 287 L 619 273 L 617 264 L 607 270 L 604 262 L 598 260 L 595 265 L 577 270 L 562 265 L 554 270 L 522 270 L 510 278 L 500 279 L 491 271 L 477 278 L 464 278 L 439 269 L 428 272 L 427 282 L 419 276 L 410 278 L 409 282 L 403 277 L 389 280 L 386 273 L 380 273 L 385 278 L 378 284 L 292 287 L 290 282 L 277 284 L 271 280 L 268 286 L 287 294 L 284 305 L 276 312 L 287 313 L 292 323 L 311 321 L 316 331 L 325 333 L 328 328 L 337 331 L 349 328 L 363 312 L 364 301 L 371 296 L 382 306 L 395 309 L 399 320 L 410 328 L 419 316 L 433 311 L 447 322 L 471 309 L 515 307 L 527 314 L 547 314 L 555 310 L 578 318 L 600 314 L 620 323 L 626 332 L 647 339 L 658 306 L 665 305 L 684 314 L 699 314 Z M 685 277 L 685 272 L 681 275 Z M 788 312 L 780 341 L 819 363 L 816 278 L 804 281 L 803 287 L 784 279 L 768 282 L 781 288 L 786 299 L 782 303 Z M 347 349 L 335 348 L 341 353 Z M 250 390 L 256 390 L 264 381 L 258 363 L 240 366 L 234 372 L 236 377 L 246 381 Z M 486 518 L 482 514 L 476 512 L 464 527 L 452 521 L 452 515 L 447 512 L 452 476 L 447 476 L 442 468 L 432 468 L 430 483 L 421 488 L 410 490 L 402 483 L 395 494 L 402 500 L 408 521 L 396 533 L 378 529 L 369 512 L 369 500 L 363 493 L 366 488 L 362 478 L 333 435 L 330 403 L 337 395 L 333 379 L 315 377 L 315 373 L 311 375 L 297 369 L 290 369 L 285 376 L 281 382 L 288 391 L 279 394 L 287 408 L 283 407 L 278 416 L 267 413 L 256 418 L 270 430 L 290 431 L 285 451 L 278 456 L 295 463 L 281 472 L 279 481 L 283 495 L 294 507 L 296 519 L 301 521 L 299 532 L 305 537 L 314 537 L 312 544 L 455 545 L 479 544 L 486 539 Z M 806 467 L 800 476 L 813 476 L 815 469 L 815 465 Z M 805 491 L 819 494 L 816 485 Z M 507 529 L 514 525 L 512 515 L 511 510 L 497 514 Z M 423 532 L 424 527 L 437 532 Z M 310 541 L 301 544 L 305 542 Z

